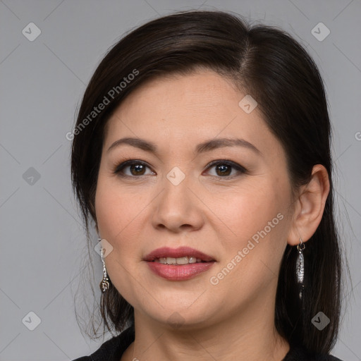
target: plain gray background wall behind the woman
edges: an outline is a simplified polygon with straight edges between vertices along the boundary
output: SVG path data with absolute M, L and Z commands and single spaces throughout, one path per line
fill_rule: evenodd
M 279 25 L 320 68 L 334 126 L 336 214 L 352 279 L 345 282 L 343 326 L 333 353 L 361 360 L 360 0 L 0 1 L 0 360 L 71 360 L 104 341 L 90 341 L 75 321 L 74 293 L 88 256 L 71 191 L 66 133 L 105 51 L 124 32 L 190 8 L 234 11 Z M 331 31 L 323 41 L 311 32 L 319 22 Z M 41 30 L 32 42 L 22 33 L 29 23 Z M 101 261 L 94 259 L 98 289 Z M 41 319 L 33 331 L 27 327 L 36 317 L 29 312 Z

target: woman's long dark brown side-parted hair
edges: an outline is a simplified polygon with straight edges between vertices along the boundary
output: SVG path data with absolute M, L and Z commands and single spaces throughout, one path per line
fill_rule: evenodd
M 188 74 L 199 68 L 231 79 L 257 99 L 264 121 L 286 152 L 293 190 L 310 181 L 315 164 L 325 166 L 329 174 L 331 188 L 322 221 L 304 252 L 305 311 L 300 312 L 302 305 L 295 287 L 297 250 L 290 245 L 281 262 L 275 310 L 276 329 L 291 346 L 302 345 L 311 353 L 329 353 L 336 342 L 341 310 L 331 125 L 317 66 L 283 30 L 251 26 L 239 16 L 222 11 L 184 11 L 138 27 L 111 48 L 85 90 L 73 132 L 72 182 L 88 241 L 89 220 L 96 222 L 94 196 L 106 121 L 146 80 Z M 92 113 L 94 106 L 105 103 L 102 111 Z M 112 284 L 102 295 L 102 318 L 109 331 L 122 331 L 126 324 L 132 324 L 133 311 Z M 331 320 L 322 331 L 311 323 L 319 311 Z

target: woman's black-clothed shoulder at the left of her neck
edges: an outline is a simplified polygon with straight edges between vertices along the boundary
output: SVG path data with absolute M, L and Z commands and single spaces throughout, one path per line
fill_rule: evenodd
M 130 326 L 118 336 L 110 338 L 89 356 L 78 357 L 73 361 L 112 361 L 119 360 L 128 345 L 134 341 L 134 326 Z

